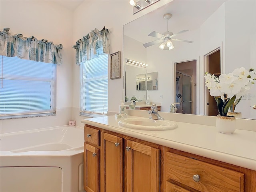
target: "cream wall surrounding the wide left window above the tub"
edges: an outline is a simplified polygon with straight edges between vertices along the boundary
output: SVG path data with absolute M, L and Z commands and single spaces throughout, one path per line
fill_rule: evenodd
M 62 44 L 63 64 L 57 66 L 56 116 L 0 120 L 1 133 L 68 124 L 72 109 L 72 22 L 73 13 L 50 1 L 1 0 L 0 30 L 44 38 Z M 71 73 L 70 73 L 71 72 Z

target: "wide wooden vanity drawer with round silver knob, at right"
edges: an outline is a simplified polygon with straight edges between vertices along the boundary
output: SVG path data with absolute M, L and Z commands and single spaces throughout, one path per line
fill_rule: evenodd
M 171 152 L 166 152 L 166 177 L 201 192 L 244 192 L 243 173 Z

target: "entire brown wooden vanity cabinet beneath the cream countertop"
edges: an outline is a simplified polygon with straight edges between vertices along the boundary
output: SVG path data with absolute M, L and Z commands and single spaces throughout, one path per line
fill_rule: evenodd
M 86 192 L 256 192 L 256 171 L 93 126 L 84 128 Z

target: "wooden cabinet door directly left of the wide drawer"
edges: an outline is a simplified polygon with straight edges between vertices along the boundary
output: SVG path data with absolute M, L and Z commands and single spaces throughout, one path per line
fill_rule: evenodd
M 127 191 L 159 192 L 160 150 L 127 140 Z

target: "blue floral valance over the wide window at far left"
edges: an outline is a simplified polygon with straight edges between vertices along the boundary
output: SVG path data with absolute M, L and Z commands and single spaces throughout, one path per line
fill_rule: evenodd
M 54 45 L 46 39 L 37 40 L 34 36 L 23 37 L 22 34 L 12 35 L 10 28 L 0 31 L 0 55 L 3 56 L 62 64 L 62 48 L 62 44 Z

